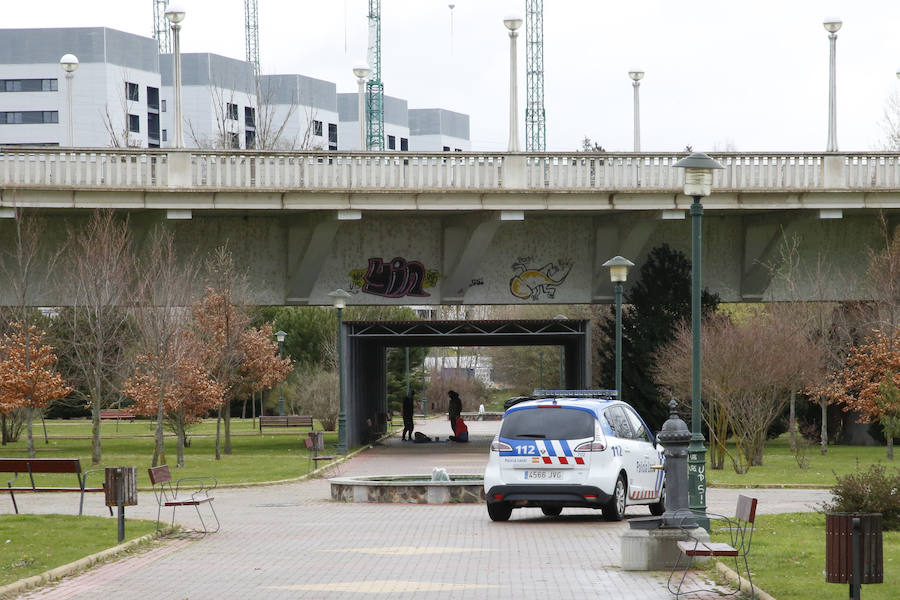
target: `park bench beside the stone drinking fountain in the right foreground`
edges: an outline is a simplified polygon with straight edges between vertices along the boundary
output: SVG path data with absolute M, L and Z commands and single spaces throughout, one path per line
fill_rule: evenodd
M 713 519 L 722 520 L 725 523 L 728 533 L 731 536 L 731 543 L 704 542 L 690 534 L 687 536 L 688 539 L 678 542 L 678 560 L 675 563 L 675 568 L 669 574 L 669 580 L 667 582 L 669 591 L 674 594 L 676 598 L 685 594 L 694 594 L 702 591 L 712 591 L 719 595 L 737 594 L 741 591 L 741 572 L 746 574 L 747 583 L 750 586 L 750 597 L 754 597 L 753 581 L 750 578 L 750 565 L 747 562 L 747 556 L 750 554 L 750 542 L 753 541 L 753 528 L 756 521 L 757 502 L 758 500 L 756 498 L 741 495 L 738 496 L 737 508 L 735 509 L 733 519 L 721 515 L 705 515 L 712 517 Z M 738 575 L 737 589 L 734 590 L 732 594 L 721 594 L 720 590 L 682 590 L 681 588 L 684 585 L 687 572 L 691 568 L 691 564 L 696 557 L 733 558 L 734 571 Z M 682 559 L 685 560 L 683 561 Z M 686 564 L 682 564 L 683 562 Z M 672 576 L 676 571 L 681 569 L 683 569 L 683 573 L 681 575 L 681 580 L 678 582 L 678 587 L 672 589 Z

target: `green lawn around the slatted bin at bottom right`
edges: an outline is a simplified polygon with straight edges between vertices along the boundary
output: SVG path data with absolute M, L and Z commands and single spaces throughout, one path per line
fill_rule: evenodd
M 728 541 L 728 534 L 713 533 Z M 864 585 L 866 600 L 896 600 L 900 582 L 900 532 L 884 533 L 884 581 Z M 760 515 L 750 547 L 753 582 L 778 598 L 846 598 L 846 584 L 825 583 L 825 515 Z M 725 564 L 733 566 L 733 562 Z

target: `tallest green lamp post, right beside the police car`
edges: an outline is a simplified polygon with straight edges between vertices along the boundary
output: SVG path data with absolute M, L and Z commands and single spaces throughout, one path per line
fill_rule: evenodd
M 691 443 L 688 445 L 689 506 L 695 514 L 706 512 L 706 446 L 700 428 L 700 274 L 702 256 L 701 226 L 703 205 L 700 201 L 712 192 L 713 169 L 723 169 L 702 152 L 682 158 L 676 167 L 684 169 L 684 194 L 691 196 Z

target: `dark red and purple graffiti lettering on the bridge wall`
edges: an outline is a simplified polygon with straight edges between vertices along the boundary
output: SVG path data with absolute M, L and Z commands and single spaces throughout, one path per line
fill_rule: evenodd
M 441 277 L 438 271 L 426 269 L 421 262 L 400 256 L 390 262 L 370 258 L 368 267 L 354 269 L 349 275 L 351 287 L 355 288 L 352 291 L 383 298 L 429 297 L 431 294 L 425 290 L 437 285 Z

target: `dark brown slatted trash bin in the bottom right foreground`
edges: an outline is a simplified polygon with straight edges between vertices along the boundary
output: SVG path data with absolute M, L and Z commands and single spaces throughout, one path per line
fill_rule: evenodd
M 881 513 L 827 513 L 825 515 L 825 581 L 852 583 L 853 519 L 859 519 L 857 584 L 883 583 Z

